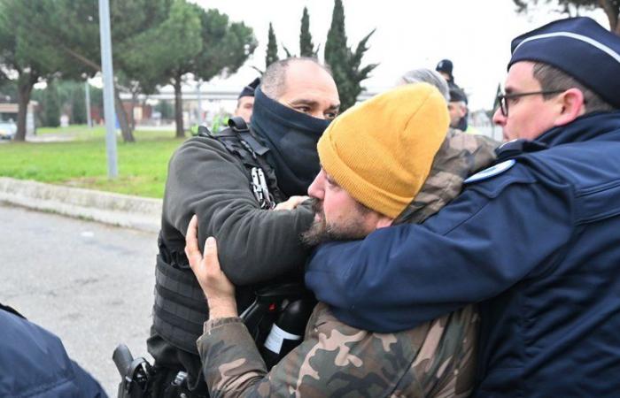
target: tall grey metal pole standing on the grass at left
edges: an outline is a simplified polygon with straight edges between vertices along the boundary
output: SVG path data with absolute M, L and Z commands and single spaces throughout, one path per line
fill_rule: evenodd
M 114 72 L 112 70 L 112 40 L 110 38 L 110 2 L 99 0 L 99 35 L 101 36 L 101 69 L 104 72 L 105 148 L 108 157 L 108 178 L 119 175 L 116 161 L 114 132 Z

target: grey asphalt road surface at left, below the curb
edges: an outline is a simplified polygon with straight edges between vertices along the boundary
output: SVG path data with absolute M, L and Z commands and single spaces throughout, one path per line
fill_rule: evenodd
M 147 356 L 155 233 L 0 203 L 0 302 L 56 333 L 110 396 L 112 351 Z

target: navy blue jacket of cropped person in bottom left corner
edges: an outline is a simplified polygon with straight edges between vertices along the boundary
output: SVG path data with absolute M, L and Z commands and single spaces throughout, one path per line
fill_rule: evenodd
M 104 390 L 58 337 L 0 308 L 0 397 L 95 398 Z

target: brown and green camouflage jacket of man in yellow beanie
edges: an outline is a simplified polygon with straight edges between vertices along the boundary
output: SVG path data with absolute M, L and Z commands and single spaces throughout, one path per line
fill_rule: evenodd
M 497 142 L 450 131 L 421 192 L 395 222 L 422 222 L 458 195 L 467 175 L 494 158 Z M 477 336 L 474 306 L 415 329 L 372 333 L 345 325 L 319 303 L 304 341 L 267 368 L 240 318 L 205 323 L 198 352 L 211 397 L 468 396 Z

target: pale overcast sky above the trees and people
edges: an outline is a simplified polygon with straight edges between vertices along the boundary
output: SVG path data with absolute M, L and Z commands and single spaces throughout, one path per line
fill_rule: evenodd
M 213 84 L 243 87 L 257 76 L 250 65 L 265 67 L 267 29 L 273 23 L 280 44 L 298 53 L 299 25 L 304 6 L 310 14 L 314 44 L 324 48 L 333 0 L 196 0 L 205 8 L 216 8 L 231 20 L 244 21 L 259 41 L 254 55 L 238 73 Z M 512 0 L 344 0 L 349 46 L 376 28 L 369 41 L 364 63 L 378 63 L 363 82 L 370 91 L 389 88 L 400 74 L 417 67 L 435 68 L 449 58 L 454 78 L 469 94 L 473 110 L 490 108 L 499 82 L 506 76 L 510 41 L 518 34 L 554 19 L 564 18 L 546 6 L 527 15 L 517 15 Z M 541 3 L 544 3 L 541 1 Z M 585 13 L 608 28 L 602 11 Z M 322 57 L 322 51 L 320 53 Z

